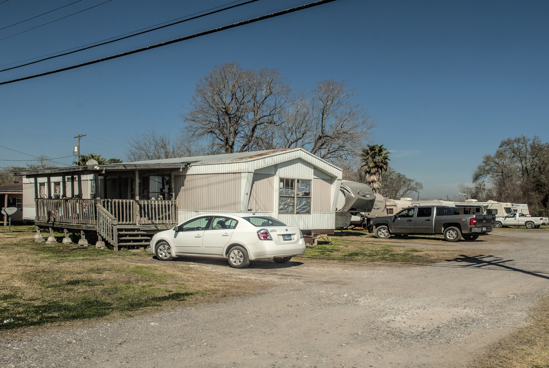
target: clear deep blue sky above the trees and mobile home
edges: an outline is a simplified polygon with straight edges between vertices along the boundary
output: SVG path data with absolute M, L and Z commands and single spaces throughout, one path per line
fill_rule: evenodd
M 230 0 L 81 0 L 13 25 L 74 1 L 0 0 L 0 69 Z M 4 71 L 0 82 L 311 1 L 261 0 Z M 148 130 L 177 136 L 195 83 L 233 60 L 243 68 L 279 68 L 295 90 L 310 91 L 326 79 L 346 81 L 355 89 L 355 102 L 376 121 L 371 142 L 391 152 L 391 167 L 423 184 L 424 199 L 461 198 L 457 186 L 470 184 L 483 155 L 493 154 L 506 138 L 537 135 L 549 141 L 549 1 L 338 0 L 0 85 L 0 167 L 36 163 L 26 160 L 41 155 L 70 165 L 79 134 L 86 134 L 82 154 L 126 160 L 131 136 Z

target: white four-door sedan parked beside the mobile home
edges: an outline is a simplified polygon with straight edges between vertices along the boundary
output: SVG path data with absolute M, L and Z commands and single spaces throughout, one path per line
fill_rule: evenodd
M 305 239 L 299 228 L 268 216 L 209 214 L 156 233 L 150 251 L 163 261 L 179 256 L 227 258 L 232 267 L 244 268 L 255 259 L 286 263 L 305 252 Z

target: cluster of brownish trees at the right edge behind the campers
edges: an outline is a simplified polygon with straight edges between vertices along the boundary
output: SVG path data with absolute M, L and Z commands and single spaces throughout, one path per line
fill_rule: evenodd
M 533 215 L 549 213 L 549 143 L 520 136 L 501 141 L 473 172 L 472 186 L 460 186 L 469 198 L 526 203 Z

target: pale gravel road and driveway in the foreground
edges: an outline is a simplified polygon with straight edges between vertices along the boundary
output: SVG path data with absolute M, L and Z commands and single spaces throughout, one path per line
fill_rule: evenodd
M 226 303 L 0 338 L 0 367 L 463 367 L 525 324 L 549 292 L 547 230 L 481 239 L 456 245 L 470 248 L 469 258 L 431 266 L 190 263 L 239 275 L 243 288 L 249 278 L 275 286 Z

